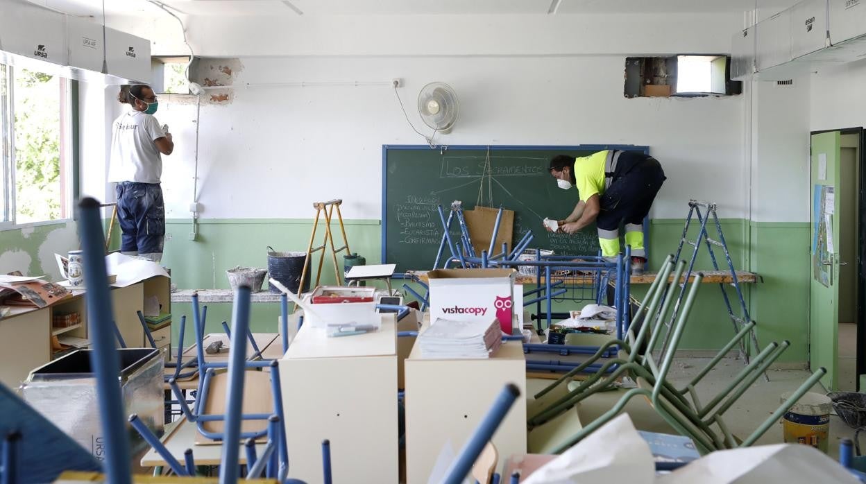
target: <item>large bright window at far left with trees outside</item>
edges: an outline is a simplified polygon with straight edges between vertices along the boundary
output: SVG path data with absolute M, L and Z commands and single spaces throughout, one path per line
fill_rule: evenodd
M 3 225 L 72 216 L 70 84 L 57 74 L 0 64 Z

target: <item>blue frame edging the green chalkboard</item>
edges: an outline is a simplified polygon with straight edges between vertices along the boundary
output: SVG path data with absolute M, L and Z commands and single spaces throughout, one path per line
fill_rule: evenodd
M 382 257 L 383 264 L 388 243 L 388 151 L 389 150 L 440 150 L 440 152 L 452 150 L 487 150 L 513 151 L 513 150 L 630 150 L 632 152 L 643 152 L 650 154 L 650 146 L 646 145 L 382 145 Z M 646 249 L 646 257 L 650 259 L 650 216 L 643 219 L 643 247 Z

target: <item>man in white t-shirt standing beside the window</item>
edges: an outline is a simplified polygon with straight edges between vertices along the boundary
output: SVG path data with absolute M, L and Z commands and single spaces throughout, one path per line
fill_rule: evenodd
M 158 262 L 165 238 L 162 155 L 174 151 L 174 142 L 167 126 L 159 126 L 153 117 L 158 101 L 150 87 L 121 87 L 118 100 L 132 106 L 114 119 L 108 166 L 108 181 L 117 183 L 120 252 Z

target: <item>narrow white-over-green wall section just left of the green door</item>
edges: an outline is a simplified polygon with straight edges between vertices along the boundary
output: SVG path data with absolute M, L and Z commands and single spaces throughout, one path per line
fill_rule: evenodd
M 746 83 L 746 146 L 750 169 L 746 267 L 761 282 L 749 287 L 759 344 L 788 339 L 783 362 L 804 362 L 809 343 L 810 79 L 792 86 Z M 785 301 L 785 304 L 780 304 Z

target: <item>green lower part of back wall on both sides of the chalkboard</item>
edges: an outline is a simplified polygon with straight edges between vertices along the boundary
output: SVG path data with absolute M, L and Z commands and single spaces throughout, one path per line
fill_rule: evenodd
M 722 219 L 721 229 L 730 250 L 734 267 L 745 269 L 751 263 L 753 271 L 764 282 L 744 285 L 744 297 L 753 319 L 759 323 L 759 342 L 789 339 L 792 347 L 782 360 L 805 362 L 808 341 L 808 256 L 800 246 L 808 244 L 808 224 L 753 223 L 743 219 Z M 682 236 L 684 220 L 656 219 L 650 226 L 650 268 L 657 269 L 664 255 L 674 253 Z M 368 263 L 379 261 L 380 225 L 373 220 L 346 221 L 346 236 L 353 252 L 364 255 Z M 714 234 L 714 227 L 711 233 Z M 165 242 L 165 265 L 171 268 L 172 281 L 182 288 L 229 287 L 225 270 L 236 265 L 267 267 L 266 248 L 303 251 L 309 242 L 312 223 L 308 220 L 205 220 L 198 223 L 197 241 L 188 239 L 190 221 L 171 220 Z M 688 238 L 694 240 L 697 228 L 693 223 Z M 746 243 L 752 242 L 750 251 Z M 805 242 L 804 242 L 805 241 Z M 318 242 L 318 241 L 317 241 Z M 808 248 L 808 246 L 805 246 Z M 684 246 L 683 257 L 690 256 L 691 246 Z M 721 268 L 724 254 L 716 249 Z M 341 265 L 342 261 L 338 261 Z M 712 264 L 706 248 L 701 247 L 695 268 L 708 269 Z M 799 274 L 799 275 L 798 275 Z M 805 274 L 805 275 L 804 275 Z M 322 282 L 333 283 L 333 262 L 326 260 Z M 634 286 L 637 296 L 646 287 Z M 805 290 L 805 293 L 804 293 Z M 726 288 L 732 302 L 736 301 L 733 287 Z M 737 307 L 734 306 L 736 311 Z M 175 314 L 190 314 L 189 305 L 174 305 Z M 208 309 L 209 328 L 219 330 L 219 323 L 230 319 L 229 305 L 211 305 Z M 279 305 L 257 304 L 253 307 L 253 327 L 274 331 Z M 177 318 L 176 318 L 177 319 Z M 733 335 L 727 308 L 716 285 L 704 285 L 688 321 L 682 349 L 714 350 Z

